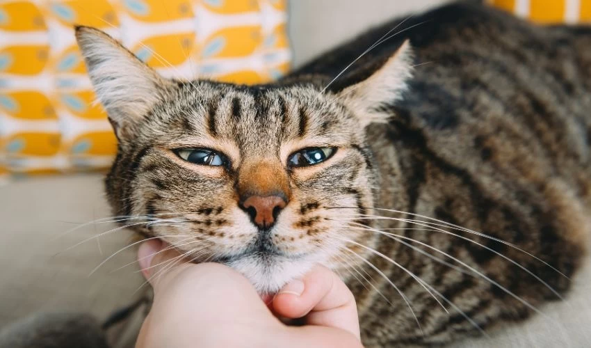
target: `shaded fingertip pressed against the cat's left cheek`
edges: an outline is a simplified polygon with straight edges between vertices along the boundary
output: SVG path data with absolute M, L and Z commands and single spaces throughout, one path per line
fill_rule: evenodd
M 184 264 L 182 254 L 161 239 L 149 239 L 138 249 L 138 263 L 144 278 L 156 286 L 157 280 L 179 264 Z

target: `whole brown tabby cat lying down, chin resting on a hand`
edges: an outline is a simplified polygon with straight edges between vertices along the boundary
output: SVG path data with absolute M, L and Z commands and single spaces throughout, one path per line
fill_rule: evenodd
M 101 31 L 76 38 L 119 140 L 115 214 L 261 293 L 335 269 L 367 347 L 525 319 L 581 267 L 588 27 L 453 3 L 259 86 L 163 79 Z

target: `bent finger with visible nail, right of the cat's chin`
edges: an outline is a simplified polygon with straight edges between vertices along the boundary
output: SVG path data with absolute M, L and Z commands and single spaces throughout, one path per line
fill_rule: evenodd
M 285 285 L 273 299 L 273 310 L 289 318 L 306 316 L 309 325 L 346 330 L 359 339 L 355 297 L 345 283 L 323 266 Z

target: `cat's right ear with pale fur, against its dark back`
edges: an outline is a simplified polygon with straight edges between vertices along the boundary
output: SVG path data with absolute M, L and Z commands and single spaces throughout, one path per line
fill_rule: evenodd
M 339 98 L 357 115 L 362 125 L 387 122 L 380 106 L 400 100 L 412 77 L 412 47 L 406 40 L 384 65 L 367 79 L 343 89 Z

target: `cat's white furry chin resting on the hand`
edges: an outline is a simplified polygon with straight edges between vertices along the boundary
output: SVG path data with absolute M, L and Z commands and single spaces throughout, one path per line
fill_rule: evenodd
M 244 255 L 225 262 L 250 280 L 259 294 L 275 294 L 290 280 L 303 276 L 314 265 L 306 258 L 283 255 Z

